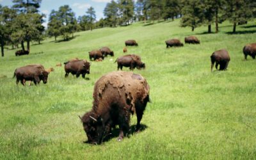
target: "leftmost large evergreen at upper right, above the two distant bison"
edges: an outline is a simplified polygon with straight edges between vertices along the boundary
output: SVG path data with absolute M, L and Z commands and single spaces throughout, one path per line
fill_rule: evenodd
M 192 31 L 204 22 L 204 10 L 202 3 L 198 0 L 182 1 L 182 19 L 180 20 L 181 27 L 191 27 Z

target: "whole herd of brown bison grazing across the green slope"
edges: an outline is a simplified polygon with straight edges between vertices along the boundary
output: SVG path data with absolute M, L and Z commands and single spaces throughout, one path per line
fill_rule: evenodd
M 200 40 L 195 36 L 188 36 L 184 38 L 186 44 L 200 44 Z M 168 47 L 182 47 L 184 46 L 178 39 L 166 40 L 166 48 Z M 125 41 L 123 52 L 127 52 L 126 46 L 138 46 L 135 40 Z M 256 43 L 247 44 L 243 48 L 244 58 L 252 56 L 255 59 Z M 29 54 L 29 51 L 17 51 L 16 56 Z M 89 52 L 90 61 L 102 61 L 107 56 L 114 56 L 114 52 L 109 47 L 102 47 L 99 50 Z M 211 55 L 211 71 L 215 63 L 218 70 L 227 70 L 230 56 L 228 51 L 221 49 L 214 51 Z M 141 61 L 141 57 L 137 54 L 127 54 L 116 58 L 117 70 L 123 67 L 129 67 L 130 70 L 134 68 L 145 68 L 145 63 Z M 86 74 L 90 74 L 91 63 L 87 60 L 79 60 L 74 58 L 64 63 L 65 77 L 68 74 L 80 74 L 84 78 Z M 61 67 L 61 63 L 56 66 Z M 22 85 L 26 81 L 33 81 L 36 84 L 43 81 L 47 83 L 47 77 L 53 68 L 45 70 L 44 66 L 40 64 L 27 65 L 25 67 L 17 68 L 14 72 L 18 84 L 19 81 Z M 30 85 L 30 83 L 29 83 Z M 137 125 L 136 131 L 140 131 L 140 121 L 143 111 L 149 102 L 149 85 L 146 79 L 140 74 L 132 72 L 110 72 L 102 77 L 95 83 L 93 91 L 93 107 L 88 113 L 85 113 L 81 118 L 84 131 L 86 132 L 88 143 L 100 144 L 104 138 L 111 134 L 111 130 L 116 125 L 119 126 L 118 141 L 124 138 L 124 135 L 129 132 L 130 116 L 136 113 Z

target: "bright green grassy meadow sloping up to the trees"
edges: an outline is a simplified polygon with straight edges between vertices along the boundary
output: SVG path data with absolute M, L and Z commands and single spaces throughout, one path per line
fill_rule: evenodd
M 214 29 L 214 28 L 212 28 Z M 179 20 L 127 27 L 103 28 L 75 34 L 67 42 L 47 38 L 31 45 L 31 54 L 15 56 L 6 50 L 0 58 L 0 159 L 255 159 L 256 60 L 244 60 L 245 44 L 256 42 L 255 21 L 237 26 L 220 24 L 180 28 Z M 201 44 L 166 49 L 165 40 L 197 36 Z M 150 99 L 141 124 L 143 131 L 118 142 L 118 134 L 102 145 L 89 145 L 78 115 L 92 108 L 95 81 L 116 70 L 124 55 L 124 41 L 135 39 L 145 70 L 134 72 L 150 85 Z M 61 40 L 61 38 L 58 38 Z M 70 58 L 89 60 L 88 52 L 108 46 L 115 56 L 92 61 L 86 79 L 68 76 L 63 66 Z M 227 49 L 227 71 L 211 72 L 210 56 Z M 42 54 L 36 54 L 43 52 Z M 54 67 L 48 83 L 22 86 L 13 78 L 15 68 L 41 63 Z M 123 70 L 129 71 L 129 68 Z M 28 83 L 27 83 L 28 84 Z M 136 115 L 131 118 L 132 127 Z

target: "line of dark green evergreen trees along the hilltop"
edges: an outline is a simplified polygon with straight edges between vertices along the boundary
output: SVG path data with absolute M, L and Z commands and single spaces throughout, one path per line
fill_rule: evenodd
M 4 45 L 27 50 L 31 41 L 38 42 L 44 36 L 62 36 L 63 40 L 74 37 L 77 31 L 95 28 L 127 26 L 136 21 L 174 20 L 180 18 L 180 27 L 207 26 L 208 33 L 218 32 L 218 24 L 228 20 L 236 32 L 237 24 L 245 24 L 256 17 L 255 0 L 112 0 L 104 8 L 104 19 L 96 21 L 95 10 L 88 8 L 83 16 L 76 18 L 70 6 L 60 6 L 49 15 L 47 30 L 44 14 L 38 13 L 42 0 L 13 0 L 12 8 L 0 4 L 0 44 L 4 56 Z

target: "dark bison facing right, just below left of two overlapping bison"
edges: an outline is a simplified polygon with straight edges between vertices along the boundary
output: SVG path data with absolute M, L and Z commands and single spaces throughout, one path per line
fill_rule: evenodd
M 84 78 L 85 74 L 90 74 L 90 63 L 86 60 L 76 60 L 65 62 L 65 77 L 68 77 L 68 74 L 76 74 L 76 77 L 79 77 L 82 74 Z

